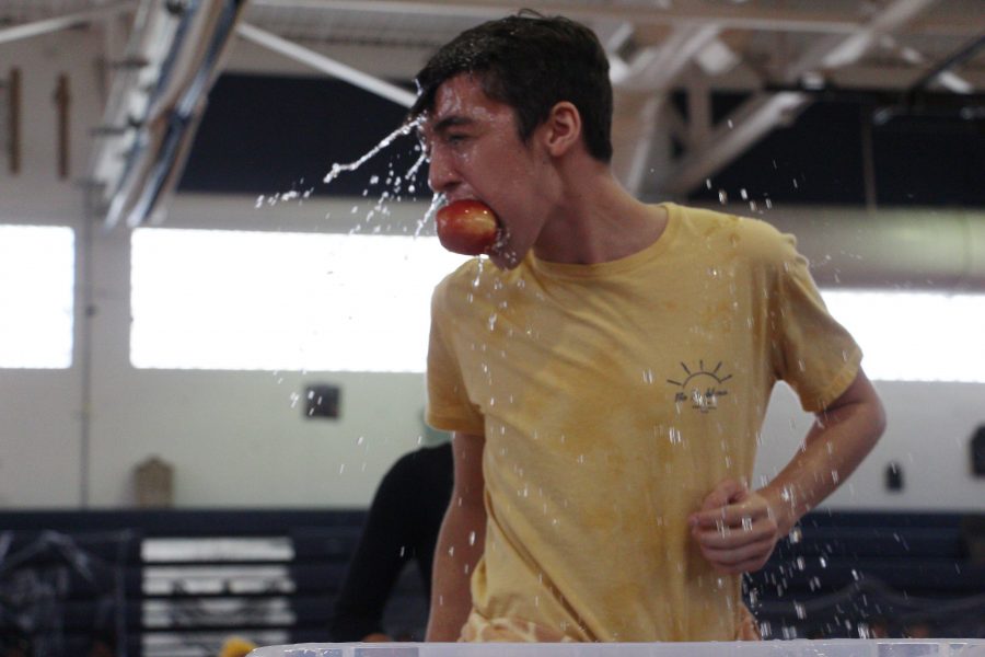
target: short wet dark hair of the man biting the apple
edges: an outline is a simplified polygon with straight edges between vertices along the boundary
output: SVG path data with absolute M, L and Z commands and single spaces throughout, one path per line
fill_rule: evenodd
M 554 105 L 569 101 L 581 115 L 589 153 L 603 162 L 612 159 L 609 59 L 584 25 L 524 10 L 466 30 L 415 78 L 418 96 L 410 116 L 431 110 L 438 88 L 460 73 L 475 73 L 486 95 L 513 108 L 524 142 Z

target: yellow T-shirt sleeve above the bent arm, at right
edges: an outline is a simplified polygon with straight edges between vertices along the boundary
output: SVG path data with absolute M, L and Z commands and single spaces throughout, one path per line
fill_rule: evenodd
M 861 349 L 827 312 L 793 235 L 778 237 L 769 303 L 773 368 L 797 392 L 803 410 L 816 413 L 855 380 Z

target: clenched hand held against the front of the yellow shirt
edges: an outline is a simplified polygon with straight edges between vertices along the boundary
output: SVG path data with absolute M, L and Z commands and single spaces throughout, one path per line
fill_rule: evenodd
M 783 535 L 766 498 L 734 480 L 718 484 L 687 521 L 702 554 L 726 574 L 762 568 Z

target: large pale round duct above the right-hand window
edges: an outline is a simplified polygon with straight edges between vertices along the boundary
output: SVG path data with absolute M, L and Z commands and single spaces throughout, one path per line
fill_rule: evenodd
M 983 211 L 784 207 L 760 218 L 797 235 L 821 287 L 985 293 Z

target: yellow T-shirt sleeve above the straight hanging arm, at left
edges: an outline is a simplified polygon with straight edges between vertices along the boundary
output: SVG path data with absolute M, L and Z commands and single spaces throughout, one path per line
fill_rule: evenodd
M 436 429 L 483 435 L 485 420 L 472 404 L 462 368 L 452 343 L 454 319 L 445 300 L 449 279 L 431 297 L 431 328 L 428 338 L 428 406 L 425 420 Z

